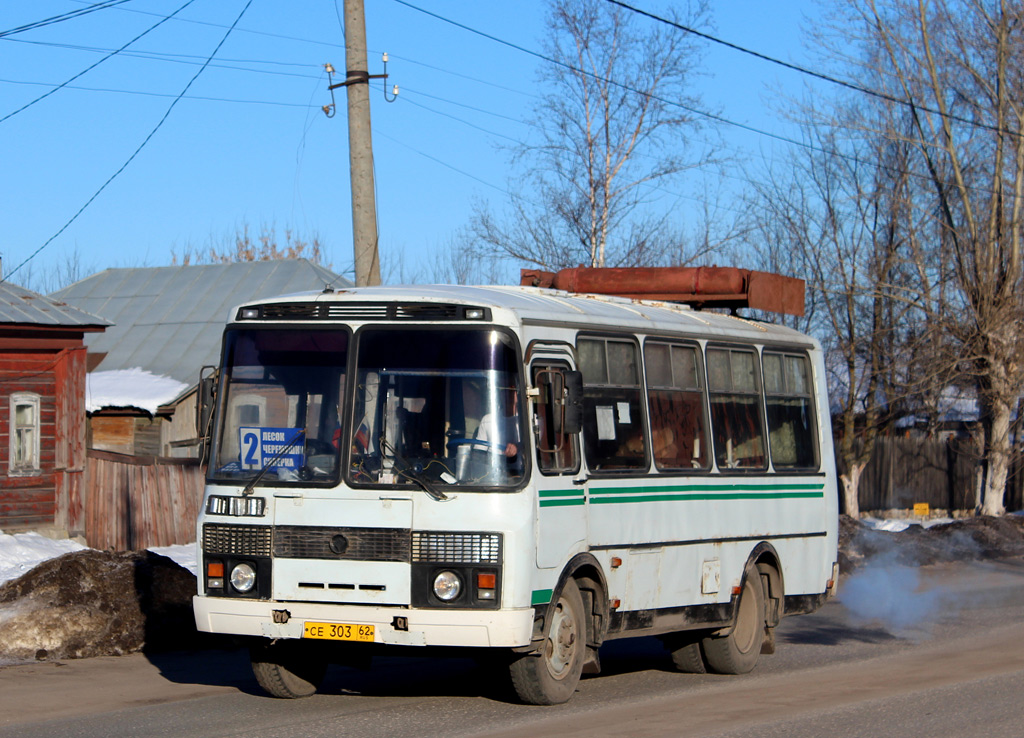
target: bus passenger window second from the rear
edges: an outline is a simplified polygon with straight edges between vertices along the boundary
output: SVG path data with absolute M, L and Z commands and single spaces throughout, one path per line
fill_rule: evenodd
M 719 469 L 764 469 L 764 424 L 757 354 L 746 349 L 709 348 L 708 397 Z

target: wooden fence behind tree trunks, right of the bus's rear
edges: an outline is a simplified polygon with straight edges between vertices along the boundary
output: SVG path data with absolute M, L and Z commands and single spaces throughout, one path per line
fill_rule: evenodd
M 906 510 L 928 503 L 938 510 L 974 510 L 978 458 L 968 440 L 880 438 L 860 478 L 861 511 Z M 837 460 L 839 471 L 842 462 Z M 1024 464 L 1018 454 L 1010 470 L 1004 504 L 1024 509 Z M 842 505 L 842 494 L 840 495 Z

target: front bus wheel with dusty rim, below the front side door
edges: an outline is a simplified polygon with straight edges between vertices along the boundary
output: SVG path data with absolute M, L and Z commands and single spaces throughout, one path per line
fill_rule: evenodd
M 517 656 L 512 687 L 527 704 L 567 702 L 580 684 L 587 652 L 587 620 L 575 579 L 568 579 L 551 608 L 541 653 Z

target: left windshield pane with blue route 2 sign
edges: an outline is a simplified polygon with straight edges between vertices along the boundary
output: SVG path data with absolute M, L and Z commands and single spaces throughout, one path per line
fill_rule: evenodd
M 348 342 L 338 330 L 228 331 L 210 479 L 336 483 Z

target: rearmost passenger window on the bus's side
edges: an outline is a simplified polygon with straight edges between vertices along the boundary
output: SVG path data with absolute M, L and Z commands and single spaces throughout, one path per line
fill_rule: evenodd
M 817 469 L 814 397 L 806 356 L 764 352 L 768 446 L 775 469 Z

